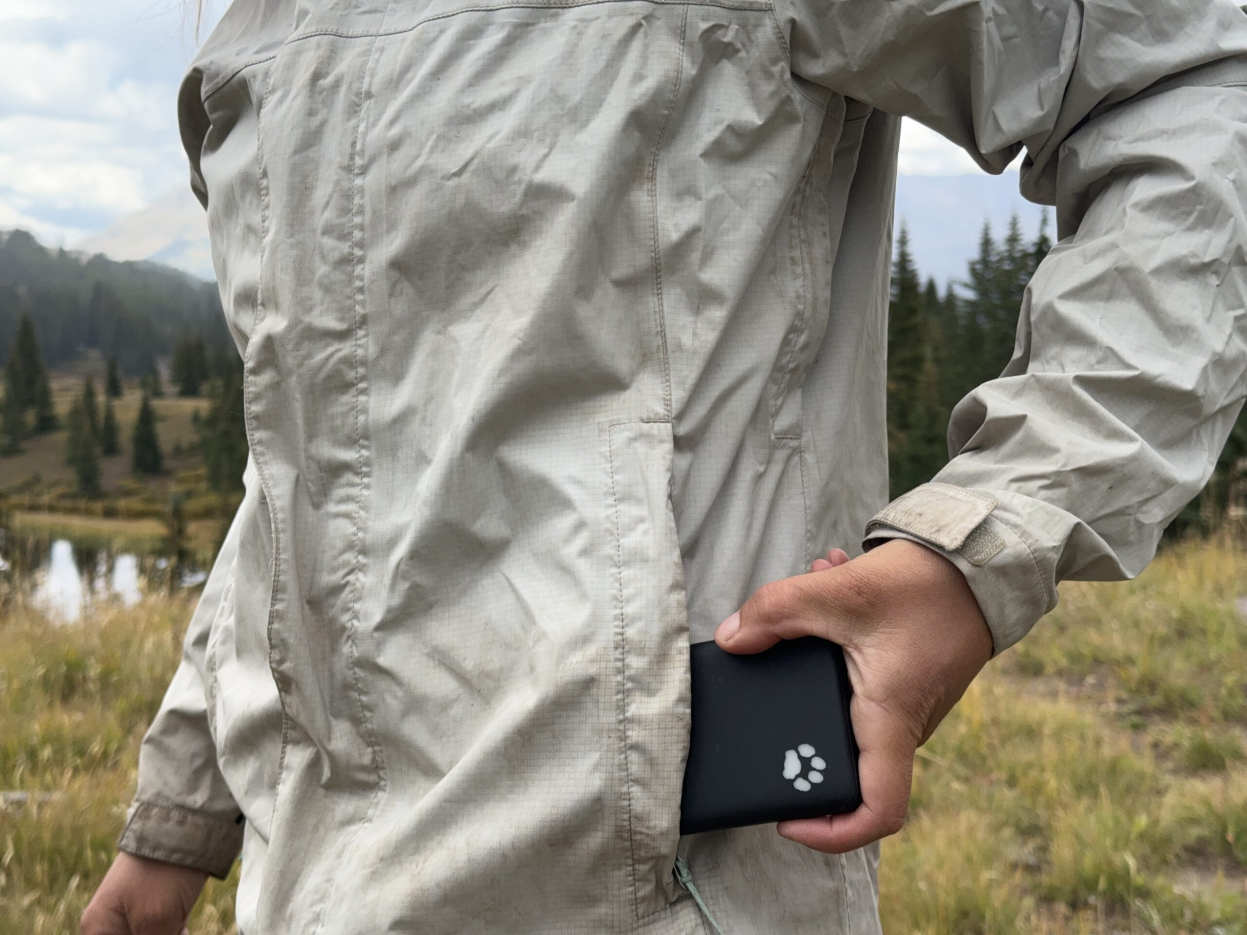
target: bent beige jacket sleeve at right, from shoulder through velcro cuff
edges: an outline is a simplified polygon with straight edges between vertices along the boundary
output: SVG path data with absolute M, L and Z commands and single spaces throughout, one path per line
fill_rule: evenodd
M 1013 358 L 863 547 L 965 573 L 995 652 L 1121 580 L 1212 474 L 1247 369 L 1247 15 L 1231 0 L 777 0 L 799 77 L 915 118 L 1055 204 Z

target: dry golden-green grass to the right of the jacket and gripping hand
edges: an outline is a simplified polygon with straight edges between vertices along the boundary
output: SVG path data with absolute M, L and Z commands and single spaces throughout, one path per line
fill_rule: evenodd
M 1247 554 L 1061 586 L 920 750 L 884 931 L 1247 931 Z

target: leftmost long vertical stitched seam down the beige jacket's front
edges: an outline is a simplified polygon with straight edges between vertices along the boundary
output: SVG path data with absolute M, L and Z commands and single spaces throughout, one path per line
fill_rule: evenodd
M 276 59 L 276 56 L 273 56 Z M 252 348 L 258 343 L 254 340 L 256 333 L 264 320 L 264 246 L 268 242 L 269 234 L 269 199 L 268 199 L 268 172 L 264 168 L 264 138 L 263 138 L 263 126 L 264 126 L 264 103 L 268 101 L 268 95 L 273 87 L 273 76 L 277 74 L 277 67 L 269 70 L 268 77 L 264 80 L 263 90 L 261 91 L 259 100 L 256 102 L 256 170 L 259 175 L 259 276 L 256 282 L 256 324 L 252 328 L 252 338 L 247 342 L 247 347 L 243 349 L 243 423 L 247 429 L 247 443 L 251 446 L 252 460 L 256 464 L 256 474 L 259 477 L 261 492 L 264 495 L 264 511 L 268 514 L 268 525 L 273 536 L 273 570 L 271 575 L 269 586 L 269 598 L 268 598 L 268 617 L 264 621 L 264 638 L 268 641 L 268 671 L 273 676 L 273 684 L 277 688 L 277 701 L 282 708 L 282 747 L 277 757 L 277 779 L 273 783 L 273 814 L 271 820 L 277 819 L 277 803 L 281 800 L 281 788 L 282 778 L 286 775 L 286 750 L 289 747 L 291 738 L 291 716 L 286 707 L 286 693 L 282 691 L 282 679 L 278 678 L 278 668 L 273 653 L 273 618 L 277 613 L 277 595 L 282 577 L 282 520 L 277 510 L 273 509 L 273 494 L 272 486 L 268 480 L 268 472 L 264 470 L 263 459 L 263 446 L 256 438 L 256 416 L 252 408 L 253 393 L 248 393 L 247 388 L 251 385 L 251 368 L 248 364 L 252 363 L 253 355 L 249 354 Z

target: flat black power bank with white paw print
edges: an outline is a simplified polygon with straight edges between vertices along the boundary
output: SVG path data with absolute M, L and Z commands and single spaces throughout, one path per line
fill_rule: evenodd
M 692 646 L 692 737 L 680 833 L 853 812 L 862 804 L 844 653 L 818 637 L 733 656 Z

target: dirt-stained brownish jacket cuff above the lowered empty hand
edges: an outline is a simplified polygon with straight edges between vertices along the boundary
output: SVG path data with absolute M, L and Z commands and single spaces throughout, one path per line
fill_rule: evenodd
M 231 822 L 177 805 L 135 802 L 117 849 L 136 856 L 181 864 L 223 880 L 242 849 L 242 815 Z

